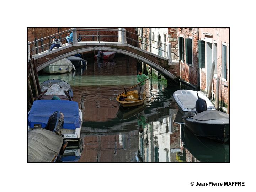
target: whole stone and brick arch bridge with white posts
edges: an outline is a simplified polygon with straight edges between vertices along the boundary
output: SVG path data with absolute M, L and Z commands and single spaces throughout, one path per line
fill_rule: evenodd
M 73 28 L 73 33 L 74 33 Z M 123 31 L 125 31 L 123 29 Z M 126 34 L 126 33 L 123 33 Z M 134 47 L 130 44 L 126 43 L 126 38 L 123 35 L 121 42 L 77 42 L 74 41 L 73 44 L 63 44 L 59 49 L 52 50 L 51 52 L 46 51 L 39 54 L 32 55 L 32 58 L 35 60 L 37 71 L 42 70 L 46 66 L 69 57 L 71 55 L 75 55 L 78 53 L 90 52 L 94 50 L 105 50 L 112 51 L 116 53 L 121 53 L 124 55 L 128 55 L 130 57 L 139 59 L 140 61 L 146 63 L 151 66 L 153 69 L 158 71 L 161 75 L 163 75 L 169 83 L 177 84 L 179 75 L 179 64 L 176 62 L 172 62 L 171 58 L 161 57 L 159 55 L 150 53 L 146 50 L 140 49 L 138 47 Z M 73 36 L 73 39 L 76 39 Z M 170 48 L 169 48 L 170 50 Z M 28 52 L 29 53 L 29 52 Z M 171 55 L 169 52 L 168 55 Z M 169 57 L 169 56 L 168 56 Z M 178 72 L 177 72 L 178 71 Z

